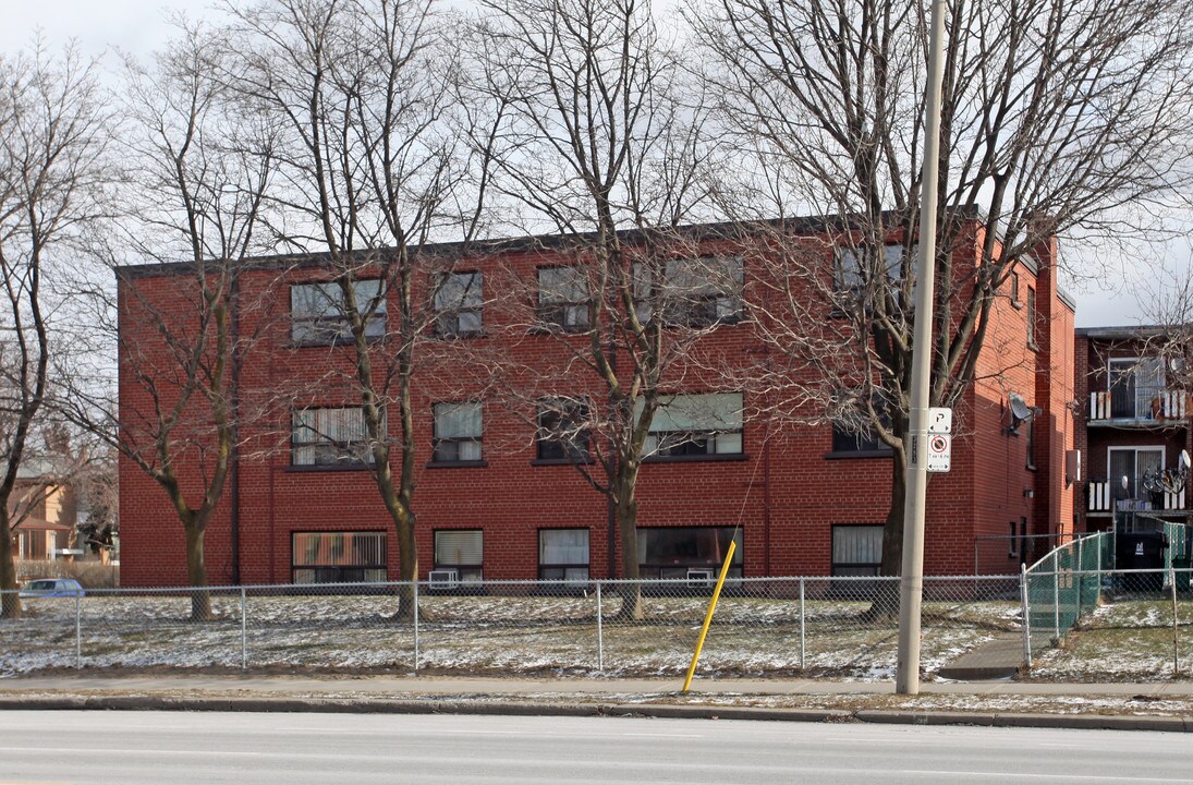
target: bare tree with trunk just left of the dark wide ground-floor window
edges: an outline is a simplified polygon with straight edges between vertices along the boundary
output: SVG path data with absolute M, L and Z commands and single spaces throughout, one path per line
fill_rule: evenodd
M 481 6 L 470 87 L 493 118 L 495 132 L 476 140 L 490 188 L 518 231 L 558 235 L 545 248 L 554 270 L 511 268 L 499 286 L 512 293 L 509 329 L 554 341 L 530 361 L 506 356 L 495 394 L 539 437 L 591 456 L 576 465 L 608 499 L 620 574 L 637 579 L 638 476 L 660 450 L 651 425 L 694 367 L 693 346 L 740 314 L 741 259 L 697 259 L 709 237 L 679 228 L 706 194 L 705 107 L 648 2 Z M 622 614 L 642 612 L 635 586 Z

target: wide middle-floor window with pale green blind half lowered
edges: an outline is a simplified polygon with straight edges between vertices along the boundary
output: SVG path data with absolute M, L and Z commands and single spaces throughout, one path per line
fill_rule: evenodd
M 641 413 L 642 406 L 636 412 Z M 742 394 L 668 395 L 660 398 L 643 455 L 742 455 Z

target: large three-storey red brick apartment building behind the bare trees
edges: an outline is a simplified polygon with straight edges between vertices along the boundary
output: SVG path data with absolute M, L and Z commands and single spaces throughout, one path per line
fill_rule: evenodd
M 971 265 L 977 247 L 970 247 Z M 830 270 L 834 249 L 828 243 L 824 248 Z M 716 252 L 716 246 L 699 252 Z M 928 489 L 929 574 L 1016 571 L 1028 556 L 1026 536 L 1071 531 L 1074 494 L 1064 466 L 1076 438 L 1074 305 L 1057 290 L 1053 254 L 1055 246 L 1034 260 L 1038 266 L 1018 264 L 994 304 L 976 373 L 979 382 L 954 416 L 951 471 L 935 475 Z M 752 277 L 765 274 L 755 261 L 748 253 L 736 256 L 736 278 L 747 289 Z M 460 299 L 468 307 L 452 316 L 457 332 L 497 326 L 501 309 L 489 303 L 500 293 L 490 283 L 500 279 L 500 271 L 538 271 L 543 282 L 552 273 L 542 271 L 560 264 L 550 237 L 493 245 L 457 259 L 452 274 L 475 276 L 464 283 L 478 284 L 482 292 L 475 301 Z M 345 361 L 346 347 L 304 340 L 311 288 L 329 277 L 319 259 L 255 260 L 240 271 L 239 302 L 256 304 L 237 326 L 256 336 L 240 363 L 242 396 L 317 379 L 321 369 Z M 185 320 L 187 299 L 179 292 L 187 278 L 193 282 L 193 273 L 183 265 L 120 271 L 119 383 L 126 422 L 152 407 L 137 378 L 144 365 L 129 356 L 130 347 L 152 351 L 156 340 L 140 303 L 179 311 L 177 317 Z M 729 293 L 718 296 L 715 305 L 718 323 L 701 341 L 744 364 L 759 347 L 744 313 L 748 305 L 743 310 L 742 298 Z M 568 317 L 567 307 L 561 303 L 557 319 Z M 385 329 L 383 320 L 378 332 Z M 462 581 L 616 577 L 619 557 L 606 499 L 549 444 L 536 443 L 525 420 L 483 397 L 474 401 L 484 381 L 481 375 L 464 361 L 452 367 L 453 353 L 464 357 L 478 341 L 505 341 L 530 354 L 552 351 L 551 338 L 533 329 L 478 333 L 441 341 L 439 370 L 416 376 L 420 575 L 456 570 Z M 686 379 L 682 389 L 670 390 L 674 402 L 699 401 L 704 410 L 718 413 L 717 422 L 701 425 L 697 409 L 685 415 L 682 406 L 656 418 L 655 438 L 663 440 L 667 431 L 682 428 L 694 434 L 688 444 L 698 449 L 643 464 L 642 575 L 682 577 L 688 570 L 713 569 L 738 524 L 737 574 L 876 574 L 890 500 L 889 455 L 832 425 L 784 426 L 764 439 L 768 424 L 741 414 L 750 409 L 750 401 L 742 400 L 748 392 L 709 392 L 699 375 Z M 588 383 L 581 370 L 560 379 L 573 390 Z M 353 404 L 336 395 L 316 391 L 291 410 L 265 418 L 271 421 L 241 426 L 235 478 L 206 532 L 212 585 L 396 576 L 396 537 L 370 472 L 324 465 L 320 456 L 328 445 L 308 438 L 310 424 L 319 420 L 324 432 L 334 429 L 333 420 L 351 418 L 352 407 L 359 406 L 359 398 Z M 1025 412 L 1028 416 L 1016 416 Z M 707 428 L 706 438 L 701 427 Z M 279 432 L 289 438 L 265 435 Z M 266 443 L 276 449 L 264 449 Z M 198 459 L 188 461 L 179 465 L 184 488 L 198 471 Z M 185 583 L 183 527 L 161 488 L 128 458 L 120 463 L 120 532 L 124 586 Z

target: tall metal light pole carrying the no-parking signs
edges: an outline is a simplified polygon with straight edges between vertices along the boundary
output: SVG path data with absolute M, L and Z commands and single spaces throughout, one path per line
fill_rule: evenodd
M 920 264 L 911 344 L 911 407 L 903 506 L 903 571 L 900 581 L 898 662 L 895 691 L 920 693 L 920 604 L 923 599 L 923 512 L 928 490 L 927 424 L 932 384 L 932 304 L 937 258 L 937 174 L 940 159 L 940 72 L 945 58 L 945 0 L 932 2 L 928 84 L 925 86 L 923 172 L 920 181 Z

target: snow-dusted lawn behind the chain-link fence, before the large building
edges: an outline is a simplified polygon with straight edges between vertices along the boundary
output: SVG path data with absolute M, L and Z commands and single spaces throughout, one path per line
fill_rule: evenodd
M 546 670 L 676 675 L 691 661 L 706 597 L 647 597 L 641 622 L 617 620 L 604 597 L 598 629 L 592 594 L 420 598 L 418 666 L 444 672 Z M 27 618 L 0 623 L 0 675 L 75 665 L 75 601 L 26 602 Z M 869 622 L 870 602 L 727 597 L 718 606 L 701 674 L 815 673 L 884 678 L 895 665 L 892 619 Z M 248 597 L 215 593 L 217 620 L 188 620 L 190 597 L 95 594 L 79 604 L 85 667 L 249 666 L 410 670 L 415 629 L 391 620 L 394 595 Z M 931 673 L 1013 629 L 1014 602 L 926 602 L 923 662 Z M 600 641 L 600 644 L 598 643 Z M 803 644 L 803 656 L 801 648 Z M 599 645 L 604 649 L 600 661 Z

